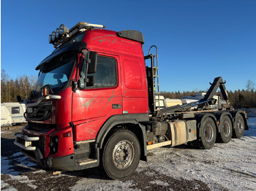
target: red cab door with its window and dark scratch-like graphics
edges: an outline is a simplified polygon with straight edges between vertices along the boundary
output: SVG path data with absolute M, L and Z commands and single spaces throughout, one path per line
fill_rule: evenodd
M 94 86 L 77 90 L 72 95 L 72 122 L 75 141 L 95 139 L 99 128 L 109 117 L 122 114 L 119 58 L 98 52 Z M 83 63 L 80 74 L 86 74 Z

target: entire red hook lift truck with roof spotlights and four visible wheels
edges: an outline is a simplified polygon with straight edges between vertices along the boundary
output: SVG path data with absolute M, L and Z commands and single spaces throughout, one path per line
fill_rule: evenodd
M 55 50 L 36 68 L 25 101 L 28 125 L 16 134 L 24 155 L 60 171 L 101 165 L 111 179 L 124 179 L 148 149 L 211 149 L 243 136 L 246 114 L 230 106 L 222 77 L 200 101 L 160 109 L 158 53 L 143 55 L 139 31 L 103 28 L 80 22 L 50 34 Z M 213 98 L 218 87 L 226 104 Z

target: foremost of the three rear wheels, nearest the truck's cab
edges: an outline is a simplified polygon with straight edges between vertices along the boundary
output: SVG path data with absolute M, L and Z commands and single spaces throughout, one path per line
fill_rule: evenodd
M 211 149 L 217 137 L 216 124 L 211 117 L 206 117 L 200 127 L 201 137 L 195 141 L 195 146 L 199 149 Z

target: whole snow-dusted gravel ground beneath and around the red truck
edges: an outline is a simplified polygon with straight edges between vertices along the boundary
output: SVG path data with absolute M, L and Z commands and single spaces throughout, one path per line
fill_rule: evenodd
M 51 174 L 13 144 L 22 125 L 1 128 L 1 190 L 256 190 L 256 116 L 242 139 L 209 150 L 157 148 L 122 181 L 99 168 Z

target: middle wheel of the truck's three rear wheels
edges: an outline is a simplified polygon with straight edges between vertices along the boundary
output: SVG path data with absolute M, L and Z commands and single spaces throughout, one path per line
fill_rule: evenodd
M 217 136 L 217 140 L 222 143 L 228 143 L 232 137 L 232 122 L 230 117 L 225 115 L 220 121 L 220 132 Z

